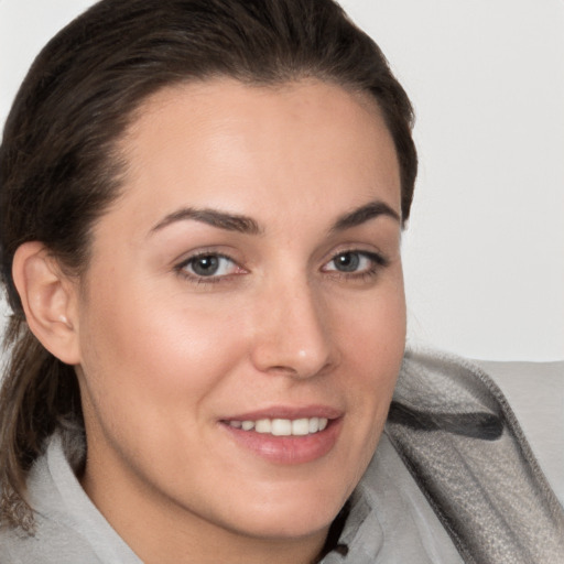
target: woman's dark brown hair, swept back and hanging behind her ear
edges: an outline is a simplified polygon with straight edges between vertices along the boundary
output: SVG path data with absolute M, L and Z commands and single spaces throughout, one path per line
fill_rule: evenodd
M 12 310 L 0 393 L 0 524 L 33 529 L 25 479 L 45 438 L 82 422 L 72 366 L 30 332 L 14 252 L 42 241 L 79 275 L 93 225 L 118 197 L 117 145 L 158 90 L 227 76 L 249 85 L 313 77 L 377 101 L 393 139 L 405 221 L 417 169 L 413 110 L 378 45 L 333 0 L 102 0 L 40 53 L 0 148 L 1 276 Z

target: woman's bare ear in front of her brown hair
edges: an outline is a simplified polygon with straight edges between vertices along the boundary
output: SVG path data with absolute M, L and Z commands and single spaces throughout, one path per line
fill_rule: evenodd
M 31 332 L 63 362 L 79 364 L 76 283 L 39 241 L 18 248 L 12 276 Z

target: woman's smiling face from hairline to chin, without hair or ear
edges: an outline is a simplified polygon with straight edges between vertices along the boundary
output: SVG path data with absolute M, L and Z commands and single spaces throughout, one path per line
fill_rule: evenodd
M 322 538 L 404 348 L 383 119 L 313 80 L 184 85 L 139 116 L 77 294 L 85 488 L 126 541 Z

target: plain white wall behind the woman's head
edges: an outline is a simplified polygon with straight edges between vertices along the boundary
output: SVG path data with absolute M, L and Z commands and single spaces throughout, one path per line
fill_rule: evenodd
M 34 55 L 90 3 L 0 0 L 2 122 Z M 474 358 L 564 358 L 564 2 L 341 4 L 417 112 L 410 340 Z

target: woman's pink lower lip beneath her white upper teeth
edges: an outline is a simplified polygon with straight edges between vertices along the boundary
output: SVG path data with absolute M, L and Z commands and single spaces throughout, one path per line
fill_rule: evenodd
M 221 423 L 242 447 L 268 462 L 282 465 L 306 464 L 328 454 L 337 442 L 340 419 L 330 420 L 324 431 L 305 436 L 274 436 L 256 431 L 242 431 Z

